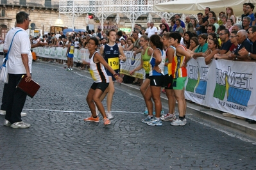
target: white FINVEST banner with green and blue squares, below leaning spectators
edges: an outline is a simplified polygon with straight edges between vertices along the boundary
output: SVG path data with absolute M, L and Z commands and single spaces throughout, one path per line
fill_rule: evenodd
M 187 64 L 185 98 L 201 105 L 256 120 L 256 63 L 191 59 Z

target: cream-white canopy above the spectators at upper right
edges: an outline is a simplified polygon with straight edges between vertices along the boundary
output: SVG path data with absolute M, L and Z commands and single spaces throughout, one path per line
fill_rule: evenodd
M 219 12 L 226 12 L 226 7 L 232 7 L 238 16 L 244 13 L 243 4 L 249 2 L 256 4 L 256 0 L 182 0 L 154 4 L 153 8 L 156 12 L 197 14 L 204 13 L 205 8 L 210 7 L 218 15 Z

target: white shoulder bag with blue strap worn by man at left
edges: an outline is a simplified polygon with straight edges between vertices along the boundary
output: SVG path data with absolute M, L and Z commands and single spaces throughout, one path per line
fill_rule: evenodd
M 19 30 L 21 31 L 21 29 Z M 13 38 L 14 36 L 19 32 L 19 31 L 16 31 L 16 33 L 13 35 L 12 37 L 12 42 L 13 42 Z M 10 49 L 12 47 L 12 42 L 10 44 L 10 47 L 8 49 L 8 52 L 6 54 L 6 57 L 3 59 L 3 64 L 1 65 L 1 73 L 0 73 L 0 80 L 3 81 L 4 83 L 8 83 L 8 55 L 9 55 L 9 52 L 10 52 Z

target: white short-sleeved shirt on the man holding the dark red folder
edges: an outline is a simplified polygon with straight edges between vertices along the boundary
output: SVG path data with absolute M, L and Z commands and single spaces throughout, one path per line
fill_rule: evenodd
M 21 29 L 13 38 L 13 35 Z M 13 42 L 12 42 L 13 38 Z M 15 27 L 11 29 L 7 34 L 4 41 L 4 49 L 8 50 L 12 42 L 12 47 L 8 54 L 8 73 L 12 74 L 26 74 L 25 66 L 23 65 L 21 54 L 28 54 L 28 66 L 30 67 L 30 73 L 32 68 L 32 54 L 30 37 L 28 33 L 21 27 Z

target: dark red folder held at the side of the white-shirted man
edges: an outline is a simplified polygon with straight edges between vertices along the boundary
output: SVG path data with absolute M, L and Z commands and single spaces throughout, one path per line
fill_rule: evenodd
M 35 96 L 35 93 L 37 93 L 38 89 L 40 88 L 40 85 L 37 82 L 33 81 L 32 79 L 30 82 L 26 82 L 25 81 L 26 77 L 27 77 L 26 75 L 22 75 L 21 81 L 19 81 L 16 88 L 21 89 L 29 97 L 33 98 Z

